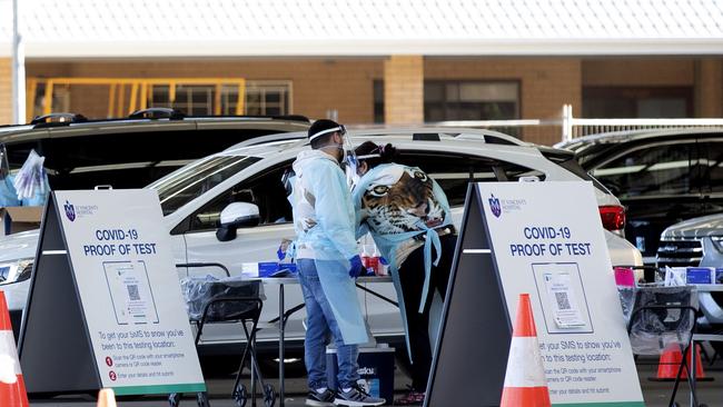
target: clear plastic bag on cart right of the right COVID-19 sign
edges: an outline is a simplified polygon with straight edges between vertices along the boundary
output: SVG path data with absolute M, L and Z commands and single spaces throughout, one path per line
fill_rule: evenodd
M 638 309 L 647 306 L 671 308 Z M 693 287 L 641 287 L 635 294 L 634 315 L 631 319 L 630 340 L 636 355 L 660 355 L 673 346 L 691 341 L 695 315 L 689 309 L 697 307 Z

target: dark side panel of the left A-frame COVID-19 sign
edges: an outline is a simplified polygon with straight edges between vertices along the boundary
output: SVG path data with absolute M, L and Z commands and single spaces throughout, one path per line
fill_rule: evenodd
M 28 393 L 102 388 L 56 200 L 46 206 L 18 354 Z M 67 373 L 72 369 L 73 375 Z

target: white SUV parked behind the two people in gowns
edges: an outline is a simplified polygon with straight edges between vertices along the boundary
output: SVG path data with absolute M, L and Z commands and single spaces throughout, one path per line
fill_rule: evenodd
M 620 206 L 620 201 L 580 169 L 573 155 L 562 150 L 522 142 L 513 137 L 477 129 L 377 129 L 349 132 L 353 145 L 366 140 L 392 142 L 400 155 L 398 162 L 418 166 L 429 173 L 447 193 L 455 224 L 459 226 L 467 185 L 472 181 L 516 181 L 536 177 L 539 181 L 580 180 L 595 182 L 601 208 Z M 299 151 L 308 149 L 306 140 L 289 139 L 254 147 L 229 148 L 222 152 L 182 167 L 147 188 L 158 191 L 165 225 L 170 234 L 177 264 L 220 262 L 231 274 L 241 271 L 241 264 L 275 261 L 283 238 L 293 238 L 291 208 L 286 199 L 281 176 L 291 166 Z M 219 241 L 216 231 L 220 212 L 229 204 L 246 201 L 258 206 L 260 222 L 256 227 L 239 228 L 230 241 Z M 603 209 L 601 209 L 602 211 Z M 605 234 L 613 265 L 640 266 L 642 257 L 625 239 Z M 36 254 L 38 232 L 23 232 L 0 240 L 0 274 L 6 270 L 6 291 L 16 315 L 26 304 L 30 270 Z M 212 268 L 179 268 L 179 277 L 215 274 Z M 396 299 L 392 284 L 369 284 L 369 288 Z M 263 321 L 277 317 L 276 286 L 266 287 L 267 300 Z M 377 339 L 396 343 L 403 336 L 399 311 L 372 295 L 358 291 L 372 332 Z M 303 302 L 298 286 L 286 289 L 286 305 Z M 303 318 L 296 312 L 288 322 L 286 338 L 289 345 L 304 339 Z M 205 328 L 201 345 L 237 344 L 240 330 L 232 324 L 211 324 Z M 386 337 L 386 340 L 385 340 Z M 277 330 L 263 329 L 259 343 L 276 346 Z

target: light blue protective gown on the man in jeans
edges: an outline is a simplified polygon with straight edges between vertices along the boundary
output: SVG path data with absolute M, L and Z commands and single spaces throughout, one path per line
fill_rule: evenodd
M 336 159 L 320 150 L 303 151 L 294 162 L 296 258 L 333 260 L 343 267 L 325 268 L 317 262 L 321 289 L 346 345 L 368 341 L 355 280 L 348 259 L 359 254 L 355 238 L 356 216 L 344 172 Z

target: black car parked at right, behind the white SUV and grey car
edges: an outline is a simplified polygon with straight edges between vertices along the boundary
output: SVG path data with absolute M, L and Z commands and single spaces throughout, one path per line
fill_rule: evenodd
M 661 232 L 681 220 L 723 211 L 723 129 L 633 130 L 556 147 L 625 206 L 625 237 L 655 262 Z

